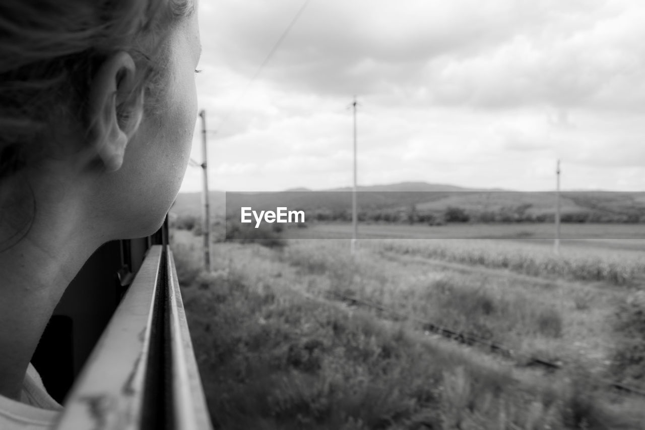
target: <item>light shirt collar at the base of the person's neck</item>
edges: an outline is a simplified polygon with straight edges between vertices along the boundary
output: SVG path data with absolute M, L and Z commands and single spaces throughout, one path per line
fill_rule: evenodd
M 35 367 L 29 363 L 21 391 L 21 401 L 0 396 L 0 429 L 50 429 L 62 410 L 63 407 L 47 393 Z

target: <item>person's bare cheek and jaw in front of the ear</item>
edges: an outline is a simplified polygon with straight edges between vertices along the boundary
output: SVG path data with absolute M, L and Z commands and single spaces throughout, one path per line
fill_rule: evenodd
M 147 236 L 159 228 L 188 166 L 197 120 L 193 70 L 175 74 L 164 89 L 159 114 L 144 115 L 123 168 L 106 186 L 101 216 L 114 224 L 115 238 Z

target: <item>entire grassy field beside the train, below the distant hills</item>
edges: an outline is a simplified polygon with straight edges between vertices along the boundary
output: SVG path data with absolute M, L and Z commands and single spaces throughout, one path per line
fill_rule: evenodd
M 477 226 L 433 239 L 396 227 L 360 240 L 353 256 L 344 239 L 215 243 L 208 274 L 197 267 L 201 237 L 172 232 L 215 427 L 644 428 L 645 397 L 609 384 L 645 391 L 634 226 L 579 232 L 559 256 L 517 236 L 525 225 L 498 240 L 473 239 Z

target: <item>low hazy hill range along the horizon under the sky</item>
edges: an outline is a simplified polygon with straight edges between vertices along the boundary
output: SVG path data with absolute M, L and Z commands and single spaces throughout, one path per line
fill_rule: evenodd
M 281 192 L 210 192 L 213 216 L 239 212 L 240 207 L 275 209 L 278 206 L 310 212 L 346 211 L 352 205 L 351 187 L 312 191 L 296 188 Z M 358 187 L 359 210 L 366 212 L 401 212 L 439 214 L 448 207 L 459 207 L 469 214 L 497 212 L 544 216 L 555 212 L 555 192 L 519 192 L 499 189 L 475 189 L 425 182 L 403 182 Z M 179 193 L 171 212 L 179 216 L 202 213 L 201 193 Z M 579 219 L 645 220 L 645 193 L 571 191 L 561 194 L 561 211 Z M 578 219 L 575 218 L 575 219 Z

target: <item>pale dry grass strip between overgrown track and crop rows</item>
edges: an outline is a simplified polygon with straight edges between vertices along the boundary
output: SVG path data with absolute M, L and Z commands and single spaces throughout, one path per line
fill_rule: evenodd
M 299 268 L 313 294 L 359 296 L 503 343 L 519 355 L 606 368 L 615 338 L 608 318 L 626 290 L 439 270 L 419 259 L 392 260 L 375 246 L 352 259 L 342 241 L 293 241 L 282 258 Z M 591 309 L 579 309 L 581 297 Z

